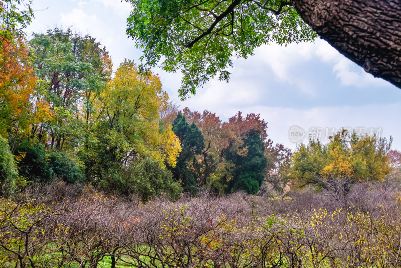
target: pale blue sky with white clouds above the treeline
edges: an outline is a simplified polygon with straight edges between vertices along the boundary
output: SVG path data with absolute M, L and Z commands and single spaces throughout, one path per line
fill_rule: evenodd
M 139 63 L 141 51 L 125 34 L 131 6 L 120 0 L 34 0 L 35 19 L 28 34 L 55 27 L 96 38 L 109 51 L 115 68 L 125 59 Z M 30 36 L 30 35 L 28 35 Z M 180 108 L 215 112 L 227 120 L 238 111 L 256 113 L 268 122 L 274 143 L 290 149 L 308 137 L 326 141 L 331 131 L 393 138 L 401 150 L 401 89 L 372 75 L 327 42 L 269 44 L 248 59 L 234 60 L 229 83 L 211 80 L 196 94 L 180 101 L 179 73 L 154 69 L 170 98 Z

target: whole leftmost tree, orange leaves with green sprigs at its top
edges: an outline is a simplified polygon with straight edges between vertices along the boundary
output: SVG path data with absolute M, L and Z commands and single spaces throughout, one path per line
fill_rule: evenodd
M 29 136 L 30 126 L 48 115 L 35 99 L 36 77 L 24 39 L 33 18 L 32 1 L 0 1 L 0 135 L 15 146 Z M 40 117 L 40 118 L 39 118 Z

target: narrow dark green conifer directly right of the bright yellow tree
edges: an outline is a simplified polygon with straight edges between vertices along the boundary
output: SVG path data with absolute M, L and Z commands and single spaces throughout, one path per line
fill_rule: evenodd
M 181 181 L 184 191 L 193 194 L 197 187 L 197 176 L 194 172 L 197 168 L 189 169 L 188 164 L 192 162 L 192 167 L 199 165 L 195 155 L 202 153 L 205 147 L 204 137 L 195 123 L 192 121 L 189 124 L 180 112 L 172 123 L 172 131 L 179 139 L 181 152 L 177 158 L 176 166 L 170 167 L 170 169 L 175 180 Z

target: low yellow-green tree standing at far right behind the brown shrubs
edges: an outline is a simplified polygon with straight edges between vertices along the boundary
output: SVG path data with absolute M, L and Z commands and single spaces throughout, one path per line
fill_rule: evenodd
M 345 130 L 330 138 L 328 144 L 310 140 L 300 145 L 293 154 L 291 164 L 292 183 L 297 187 L 308 184 L 336 190 L 332 182 L 342 179 L 345 191 L 362 181 L 382 181 L 390 172 L 387 153 L 391 139 L 358 137 Z

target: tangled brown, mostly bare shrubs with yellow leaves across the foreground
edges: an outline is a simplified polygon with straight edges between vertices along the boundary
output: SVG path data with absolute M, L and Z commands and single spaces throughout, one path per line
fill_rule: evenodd
M 2 267 L 398 267 L 398 191 L 106 196 L 64 183 L 1 199 Z

